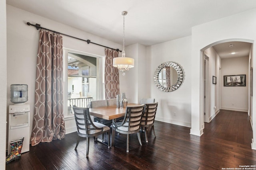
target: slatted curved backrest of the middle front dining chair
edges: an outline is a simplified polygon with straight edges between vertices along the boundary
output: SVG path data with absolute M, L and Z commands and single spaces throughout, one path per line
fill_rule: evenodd
M 122 121 L 122 126 L 117 128 L 119 130 L 128 132 L 138 131 L 140 129 L 140 123 L 144 109 L 144 104 L 140 106 L 127 106 L 124 120 Z

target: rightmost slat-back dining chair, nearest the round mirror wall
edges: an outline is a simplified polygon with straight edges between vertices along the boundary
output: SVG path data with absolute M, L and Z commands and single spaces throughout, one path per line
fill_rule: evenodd
M 141 128 L 145 132 L 146 142 L 148 142 L 148 127 L 152 128 L 152 131 L 156 137 L 156 133 L 154 129 L 154 121 L 156 117 L 157 106 L 158 106 L 158 102 L 145 104 L 145 111 L 144 111 L 144 114 L 142 115 L 142 120 L 141 120 Z

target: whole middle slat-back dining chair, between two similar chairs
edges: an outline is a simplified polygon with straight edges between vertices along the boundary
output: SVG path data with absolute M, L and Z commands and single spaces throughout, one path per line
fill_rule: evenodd
M 144 113 L 145 105 L 140 106 L 127 106 L 123 121 L 116 122 L 113 120 L 112 123 L 112 140 L 111 146 L 114 146 L 115 132 L 127 134 L 126 139 L 126 152 L 129 152 L 129 141 L 130 134 L 137 133 L 140 145 L 142 145 L 140 140 L 140 124 L 142 119 L 142 114 Z

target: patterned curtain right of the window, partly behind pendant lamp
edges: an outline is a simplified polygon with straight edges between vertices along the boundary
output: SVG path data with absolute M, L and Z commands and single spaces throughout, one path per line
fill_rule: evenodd
M 105 96 L 106 99 L 116 98 L 119 94 L 119 72 L 113 67 L 113 59 L 118 57 L 116 50 L 105 48 Z

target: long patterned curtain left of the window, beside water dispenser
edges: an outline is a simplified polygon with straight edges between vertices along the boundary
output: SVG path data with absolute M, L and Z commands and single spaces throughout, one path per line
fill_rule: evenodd
M 65 137 L 62 36 L 40 30 L 31 145 Z

